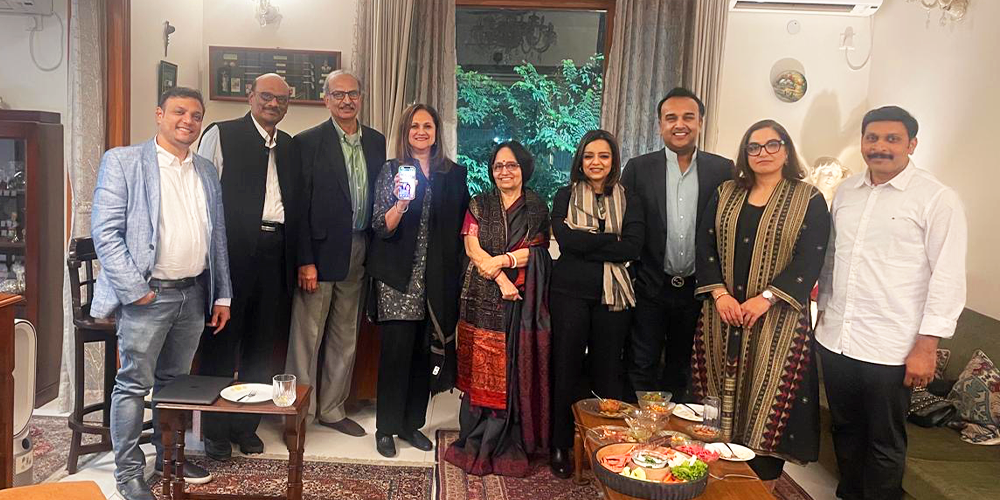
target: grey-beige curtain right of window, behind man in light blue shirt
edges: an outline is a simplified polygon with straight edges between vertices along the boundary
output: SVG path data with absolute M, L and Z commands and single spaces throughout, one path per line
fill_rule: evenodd
M 727 0 L 618 0 L 601 125 L 624 161 L 663 147 L 656 104 L 678 85 L 705 103 L 700 141 L 714 148 L 727 14 Z

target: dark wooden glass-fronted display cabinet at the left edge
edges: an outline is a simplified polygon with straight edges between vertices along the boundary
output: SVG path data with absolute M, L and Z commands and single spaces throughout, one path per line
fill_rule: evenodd
M 59 390 L 66 267 L 63 129 L 58 113 L 0 110 L 0 293 L 38 334 L 35 405 Z

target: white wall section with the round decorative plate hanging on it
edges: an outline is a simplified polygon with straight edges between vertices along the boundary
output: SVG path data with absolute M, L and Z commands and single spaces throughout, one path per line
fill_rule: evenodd
M 793 19 L 801 23 L 796 35 L 786 30 Z M 858 32 L 858 50 L 851 58 L 861 62 L 869 47 L 869 23 L 869 18 L 847 16 L 731 12 L 721 99 L 706 103 L 719 106 L 716 151 L 734 157 L 747 128 L 771 118 L 788 129 L 810 166 L 820 156 L 833 156 L 861 171 L 861 117 L 867 110 L 871 66 L 851 70 L 839 47 L 840 34 L 852 27 Z M 771 68 L 786 58 L 802 63 L 808 81 L 805 97 L 796 103 L 779 100 L 771 89 Z

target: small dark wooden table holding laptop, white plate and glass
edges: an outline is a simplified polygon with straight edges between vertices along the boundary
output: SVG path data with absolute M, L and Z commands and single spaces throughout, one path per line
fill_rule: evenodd
M 160 412 L 160 429 L 163 432 L 163 497 L 172 500 L 186 499 L 286 499 L 302 500 L 302 454 L 306 442 L 306 415 L 309 411 L 309 394 L 312 387 L 298 385 L 295 403 L 279 407 L 271 401 L 264 403 L 233 403 L 219 398 L 210 405 L 157 403 Z M 245 496 L 184 491 L 184 432 L 187 419 L 193 411 L 207 413 L 251 413 L 279 415 L 285 419 L 285 445 L 288 447 L 288 489 L 284 496 Z

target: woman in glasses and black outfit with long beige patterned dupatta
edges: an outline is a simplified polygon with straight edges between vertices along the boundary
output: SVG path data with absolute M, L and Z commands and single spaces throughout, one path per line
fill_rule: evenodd
M 697 233 L 692 352 L 696 397 L 722 400 L 722 439 L 757 454 L 764 481 L 819 452 L 819 385 L 809 293 L 830 236 L 823 195 L 802 182 L 795 146 L 772 120 L 750 127 L 733 180 Z

